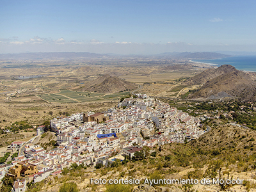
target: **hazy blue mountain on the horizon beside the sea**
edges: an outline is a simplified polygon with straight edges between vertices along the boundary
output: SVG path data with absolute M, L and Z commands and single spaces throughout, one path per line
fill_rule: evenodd
M 218 58 L 231 57 L 227 54 L 220 54 L 217 52 L 164 52 L 163 54 L 158 54 L 160 57 L 169 57 L 172 59 L 186 59 L 186 60 L 211 60 Z

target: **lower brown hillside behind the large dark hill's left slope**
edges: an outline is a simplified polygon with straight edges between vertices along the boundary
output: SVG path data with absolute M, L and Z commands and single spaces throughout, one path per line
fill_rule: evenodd
M 189 85 L 205 84 L 207 81 L 214 79 L 215 77 L 234 71 L 236 71 L 236 68 L 232 65 L 221 65 L 221 67 L 218 68 L 209 68 L 200 74 L 197 74 L 195 77 L 191 77 L 186 80 L 185 83 L 188 83 Z

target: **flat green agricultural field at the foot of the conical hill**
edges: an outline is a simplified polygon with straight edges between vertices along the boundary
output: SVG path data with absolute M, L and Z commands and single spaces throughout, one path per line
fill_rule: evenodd
M 121 93 L 92 93 L 92 92 L 76 92 L 71 90 L 61 90 L 59 93 L 47 93 L 37 95 L 47 102 L 58 103 L 79 103 L 91 101 L 104 101 L 104 100 L 118 100 L 122 97 L 127 97 L 129 92 Z

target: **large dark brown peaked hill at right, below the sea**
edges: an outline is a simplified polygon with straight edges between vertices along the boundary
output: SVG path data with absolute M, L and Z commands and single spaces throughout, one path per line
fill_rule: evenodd
M 237 97 L 242 101 L 256 100 L 256 83 L 248 74 L 230 65 L 223 65 L 216 69 L 219 76 L 207 81 L 197 92 L 189 95 L 191 99 L 221 99 L 223 97 Z M 204 73 L 204 72 L 202 72 Z M 200 77 L 207 77 L 209 71 Z M 216 73 L 217 74 L 217 73 Z M 202 79 L 200 79 L 200 82 Z M 205 81 L 205 79 L 204 79 Z

